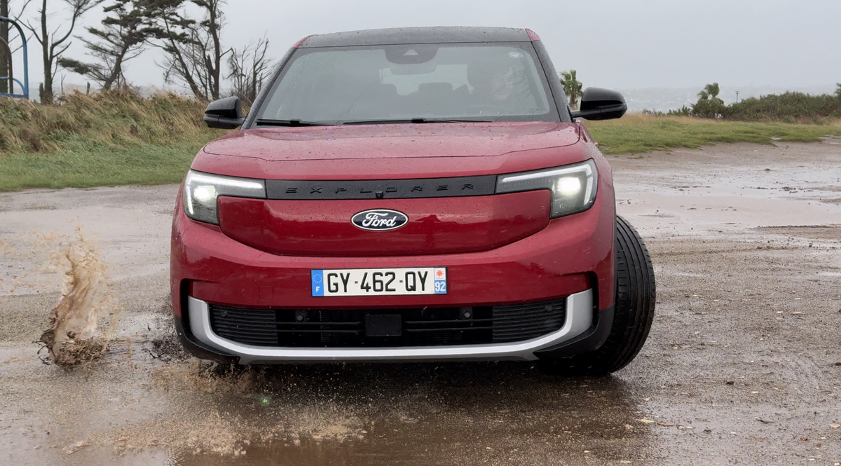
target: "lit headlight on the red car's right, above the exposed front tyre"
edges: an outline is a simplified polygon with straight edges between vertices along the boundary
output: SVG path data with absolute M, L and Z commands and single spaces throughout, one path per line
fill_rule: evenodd
M 595 162 L 565 167 L 510 173 L 496 178 L 496 193 L 518 193 L 535 189 L 552 191 L 552 218 L 590 209 L 595 201 Z

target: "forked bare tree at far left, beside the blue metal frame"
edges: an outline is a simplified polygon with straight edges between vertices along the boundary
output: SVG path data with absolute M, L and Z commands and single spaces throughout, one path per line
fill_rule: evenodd
M 67 51 L 71 42 L 68 40 L 76 28 L 78 19 L 87 13 L 91 8 L 97 7 L 105 0 L 61 0 L 70 8 L 70 21 L 66 31 L 60 33 L 61 26 L 50 32 L 47 27 L 47 19 L 50 14 L 47 9 L 47 0 L 41 0 L 41 9 L 38 12 L 40 24 L 33 26 L 27 23 L 26 28 L 32 31 L 35 40 L 41 45 L 41 56 L 44 61 L 44 83 L 41 85 L 41 103 L 53 102 L 53 79 L 58 71 L 58 59 Z M 55 4 L 55 3 L 53 3 Z

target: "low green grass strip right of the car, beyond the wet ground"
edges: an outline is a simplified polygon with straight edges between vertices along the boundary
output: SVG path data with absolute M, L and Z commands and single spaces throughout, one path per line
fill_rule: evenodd
M 743 123 L 642 114 L 586 125 L 606 154 L 696 149 L 723 142 L 817 142 L 825 135 L 841 135 L 841 124 Z

